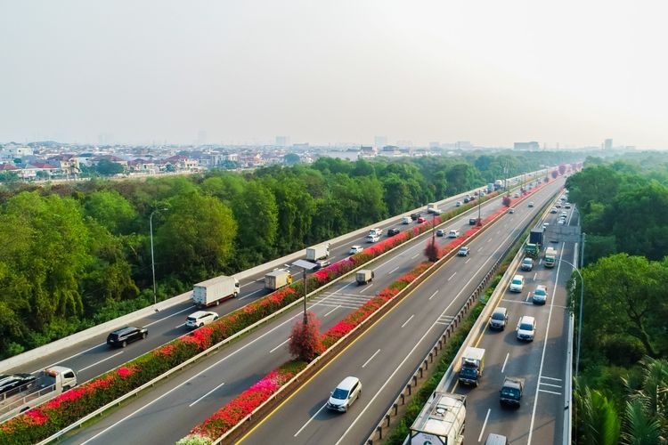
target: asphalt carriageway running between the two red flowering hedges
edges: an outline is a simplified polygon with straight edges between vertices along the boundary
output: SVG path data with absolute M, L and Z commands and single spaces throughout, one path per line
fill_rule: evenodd
M 552 186 L 556 190 L 556 185 Z M 547 192 L 540 190 L 537 195 L 547 196 Z M 534 198 L 536 199 L 536 198 Z M 496 211 L 501 203 L 496 200 L 483 206 L 482 214 L 491 214 Z M 529 209 L 534 211 L 535 209 Z M 517 212 L 507 217 L 505 230 L 516 231 L 516 223 L 528 218 L 529 212 Z M 521 216 L 524 214 L 524 216 Z M 466 231 L 468 225 L 468 214 L 461 215 L 455 221 L 445 226 L 447 230 L 459 229 Z M 489 241 L 482 241 L 473 246 L 473 252 L 478 253 L 454 263 L 467 264 L 469 271 L 479 271 L 485 264 L 493 263 L 494 255 L 498 255 L 500 248 L 491 241 L 498 237 L 503 229 L 499 228 L 491 235 Z M 498 233 L 496 233 L 498 232 Z M 437 238 L 439 244 L 445 244 L 452 239 Z M 400 278 L 405 272 L 410 271 L 417 263 L 424 259 L 422 251 L 425 241 L 400 247 L 392 255 L 373 263 L 371 268 L 376 273 L 374 281 L 366 286 L 357 286 L 353 279 L 344 279 L 335 286 L 330 287 L 321 295 L 312 299 L 309 310 L 313 311 L 322 321 L 322 331 L 335 325 L 347 313 L 359 307 L 368 298 L 387 285 Z M 497 254 L 485 255 L 485 250 Z M 483 253 L 483 255 L 479 255 Z M 470 264 L 469 264 L 470 263 Z M 451 267 L 452 277 L 459 277 L 454 267 Z M 470 280 L 469 280 L 470 281 Z M 477 283 L 469 283 L 475 287 Z M 441 286 L 440 284 L 438 285 Z M 438 295 L 427 296 L 428 304 L 424 304 L 415 320 L 403 320 L 407 329 L 415 328 L 423 316 L 433 315 L 433 302 L 436 305 L 443 303 L 448 292 Z M 462 290 L 458 297 L 464 297 Z M 466 295 L 468 296 L 468 295 Z M 429 299 L 430 298 L 430 299 Z M 438 303 L 436 303 L 438 302 Z M 455 306 L 456 304 L 452 304 Z M 442 312 L 442 311 L 441 311 Z M 281 363 L 289 360 L 287 343 L 289 331 L 296 320 L 300 320 L 301 309 L 296 309 L 285 314 L 271 324 L 257 329 L 240 341 L 224 348 L 211 357 L 201 360 L 187 372 L 170 378 L 165 384 L 161 384 L 155 391 L 147 392 L 140 398 L 128 403 L 126 406 L 114 411 L 110 416 L 104 417 L 100 422 L 87 427 L 70 437 L 69 443 L 110 443 L 113 442 L 150 442 L 170 443 L 177 441 L 186 435 L 194 425 L 210 416 L 216 409 L 222 407 L 227 401 L 232 400 L 240 392 L 245 391 L 251 384 L 256 383 L 262 376 L 271 371 Z M 448 324 L 448 315 L 444 314 L 444 327 Z M 409 328 L 410 327 L 410 328 Z M 403 379 L 403 375 L 401 376 Z M 397 377 L 398 377 L 397 376 Z M 330 384 L 327 385 L 328 387 Z M 147 425 L 161 425 L 159 429 L 147 427 Z M 275 441 L 270 441 L 276 443 Z

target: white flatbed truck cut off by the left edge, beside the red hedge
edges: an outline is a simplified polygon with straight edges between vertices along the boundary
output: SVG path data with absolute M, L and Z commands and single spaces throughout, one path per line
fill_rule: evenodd
M 23 390 L 0 403 L 0 422 L 11 419 L 28 409 L 50 401 L 77 385 L 77 375 L 70 368 L 53 366 L 37 374 Z

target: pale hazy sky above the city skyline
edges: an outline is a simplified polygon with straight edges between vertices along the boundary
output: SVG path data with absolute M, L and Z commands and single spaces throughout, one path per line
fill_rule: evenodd
M 0 142 L 668 149 L 665 1 L 0 0 Z

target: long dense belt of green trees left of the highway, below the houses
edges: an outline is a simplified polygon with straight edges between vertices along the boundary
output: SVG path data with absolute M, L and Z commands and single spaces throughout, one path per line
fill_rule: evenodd
M 411 158 L 146 182 L 86 182 L 0 194 L 0 358 L 392 214 L 572 153 Z

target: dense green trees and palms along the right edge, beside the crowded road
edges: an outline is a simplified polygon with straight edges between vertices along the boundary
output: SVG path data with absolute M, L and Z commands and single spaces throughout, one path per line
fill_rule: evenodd
M 566 182 L 587 233 L 578 442 L 654 444 L 668 437 L 667 185 L 663 154 L 612 164 L 588 159 Z

